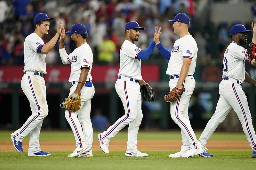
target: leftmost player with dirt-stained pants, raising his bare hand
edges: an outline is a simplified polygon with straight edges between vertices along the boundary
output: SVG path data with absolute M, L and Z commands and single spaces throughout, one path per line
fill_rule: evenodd
M 39 134 L 44 118 L 48 115 L 46 101 L 46 54 L 55 46 L 61 32 L 62 21 L 59 21 L 57 33 L 52 40 L 44 44 L 43 35 L 49 31 L 50 20 L 45 13 L 39 13 L 34 18 L 35 32 L 28 35 L 24 41 L 24 75 L 21 79 L 21 88 L 27 96 L 32 115 L 23 126 L 11 134 L 11 140 L 16 151 L 23 152 L 22 141 L 29 135 L 28 156 L 51 156 L 51 153 L 42 151 L 39 147 Z

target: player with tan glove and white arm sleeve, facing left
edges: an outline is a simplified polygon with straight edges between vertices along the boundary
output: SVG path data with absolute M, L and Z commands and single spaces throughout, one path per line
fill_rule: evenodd
M 91 99 L 94 95 L 92 84 L 92 49 L 86 42 L 87 30 L 82 24 L 72 25 L 70 31 L 73 44 L 77 48 L 67 54 L 64 46 L 66 37 L 65 28 L 60 34 L 60 57 L 63 64 L 71 64 L 71 72 L 68 81 L 70 82 L 70 96 L 76 93 L 81 96 L 81 109 L 76 112 L 66 110 L 65 117 L 74 133 L 76 139 L 76 149 L 68 157 L 93 157 L 92 141 L 93 131 L 91 122 Z M 81 126 L 82 125 L 82 126 Z

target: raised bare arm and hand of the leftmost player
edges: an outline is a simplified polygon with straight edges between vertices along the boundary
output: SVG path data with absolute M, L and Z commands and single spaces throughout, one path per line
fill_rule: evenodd
M 44 44 L 44 46 L 42 47 L 40 53 L 48 54 L 49 51 L 51 51 L 52 48 L 54 48 L 56 42 L 59 39 L 60 33 L 61 33 L 61 24 L 62 24 L 62 21 L 59 21 L 59 24 L 58 24 L 58 27 L 57 27 L 57 33 L 52 37 L 52 39 L 49 42 Z

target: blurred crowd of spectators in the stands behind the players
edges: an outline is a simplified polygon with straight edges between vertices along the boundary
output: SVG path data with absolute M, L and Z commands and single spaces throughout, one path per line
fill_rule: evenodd
M 59 20 L 63 21 L 66 31 L 73 24 L 81 23 L 89 33 L 87 42 L 93 50 L 94 63 L 111 65 L 119 64 L 126 22 L 137 21 L 145 27 L 136 44 L 142 49 L 152 41 L 155 26 L 161 26 L 161 43 L 171 50 L 179 37 L 173 33 L 168 20 L 177 13 L 186 13 L 191 18 L 192 29 L 194 5 L 194 0 L 0 0 L 0 64 L 24 64 L 24 40 L 34 32 L 33 18 L 37 13 L 44 12 L 54 18 L 48 35 L 43 37 L 44 43 L 56 33 Z M 69 36 L 67 34 L 66 38 Z M 197 38 L 202 39 L 202 35 L 199 33 Z M 73 51 L 75 46 L 70 41 L 65 42 L 67 52 Z M 47 54 L 46 64 L 61 64 L 58 42 L 55 50 Z

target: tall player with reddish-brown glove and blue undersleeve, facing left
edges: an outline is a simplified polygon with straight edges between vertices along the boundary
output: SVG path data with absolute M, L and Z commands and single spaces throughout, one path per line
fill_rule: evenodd
M 180 39 L 175 41 L 172 52 L 164 48 L 159 41 L 160 30 L 155 36 L 156 46 L 169 61 L 166 74 L 169 75 L 170 90 L 176 87 L 186 91 L 178 98 L 177 101 L 171 103 L 172 120 L 179 125 L 181 129 L 182 146 L 181 151 L 175 154 L 170 154 L 170 158 L 192 157 L 194 155 L 212 156 L 205 152 L 204 148 L 196 139 L 196 135 L 190 125 L 188 118 L 189 98 L 194 91 L 196 82 L 193 74 L 196 68 L 197 44 L 194 38 L 188 32 L 190 19 L 185 13 L 177 14 L 173 22 L 174 33 L 180 36 Z M 157 29 L 157 27 L 156 27 Z

